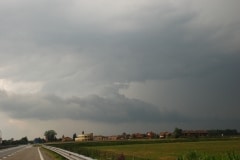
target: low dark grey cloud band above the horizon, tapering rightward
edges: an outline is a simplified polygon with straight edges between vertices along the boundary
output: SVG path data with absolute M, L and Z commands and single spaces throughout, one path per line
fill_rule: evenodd
M 7 95 L 1 91 L 0 109 L 19 119 L 73 119 L 93 122 L 158 123 L 170 118 L 154 105 L 122 95 L 103 98 L 92 95 L 87 98 L 62 99 L 54 95 Z

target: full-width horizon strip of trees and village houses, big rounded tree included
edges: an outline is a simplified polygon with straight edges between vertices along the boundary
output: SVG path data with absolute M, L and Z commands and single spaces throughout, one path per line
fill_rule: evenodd
M 74 133 L 72 137 L 62 135 L 57 138 L 57 133 L 54 130 L 46 131 L 49 133 L 45 135 L 45 138 L 35 138 L 29 141 L 27 137 L 23 137 L 19 140 L 3 140 L 0 135 L 0 148 L 7 145 L 18 145 L 28 143 L 45 143 L 45 142 L 85 142 L 85 141 L 119 141 L 119 140 L 135 140 L 135 139 L 168 139 L 168 138 L 212 138 L 212 137 L 235 137 L 240 136 L 240 133 L 236 129 L 215 129 L 215 130 L 183 130 L 175 128 L 173 132 L 163 131 L 156 133 L 149 131 L 146 133 L 125 133 L 112 136 L 94 135 L 93 133 L 85 133 L 82 131 L 80 134 Z M 50 137 L 49 137 L 50 136 Z

